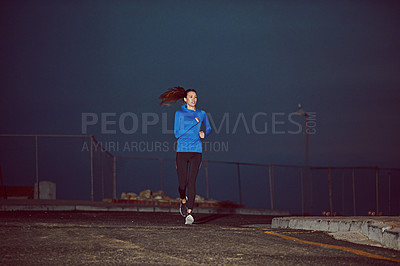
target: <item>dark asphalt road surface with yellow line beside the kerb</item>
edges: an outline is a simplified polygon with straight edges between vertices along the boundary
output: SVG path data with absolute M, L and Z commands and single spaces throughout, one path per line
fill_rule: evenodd
M 1 265 L 398 265 L 400 252 L 323 232 L 271 229 L 270 216 L 0 212 Z

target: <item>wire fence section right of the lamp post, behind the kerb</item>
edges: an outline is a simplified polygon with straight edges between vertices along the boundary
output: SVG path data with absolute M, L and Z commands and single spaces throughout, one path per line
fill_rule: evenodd
M 399 168 L 311 167 L 310 212 L 399 215 Z

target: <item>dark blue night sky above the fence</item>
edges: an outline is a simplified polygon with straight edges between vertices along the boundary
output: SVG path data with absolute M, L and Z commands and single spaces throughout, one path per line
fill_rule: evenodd
M 181 85 L 230 132 L 213 160 L 304 163 L 303 134 L 281 130 L 298 103 L 316 114 L 310 164 L 400 167 L 397 1 L 2 1 L 0 133 L 81 134 L 84 112 L 168 114 L 158 96 Z M 255 134 L 268 123 L 268 132 Z M 232 133 L 240 113 L 241 123 Z M 304 118 L 294 117 L 299 123 Z M 118 122 L 117 122 L 118 123 Z M 112 128 L 112 127 L 111 127 Z M 173 141 L 161 123 L 99 140 Z M 173 158 L 174 152 L 119 155 Z

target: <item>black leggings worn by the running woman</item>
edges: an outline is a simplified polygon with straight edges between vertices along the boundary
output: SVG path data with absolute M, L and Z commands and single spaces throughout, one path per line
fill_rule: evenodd
M 194 198 L 196 197 L 196 178 L 201 166 L 202 154 L 199 152 L 177 152 L 176 171 L 178 172 L 179 196 L 186 197 L 186 186 L 188 187 L 188 209 L 193 210 Z M 187 169 L 189 166 L 189 176 Z

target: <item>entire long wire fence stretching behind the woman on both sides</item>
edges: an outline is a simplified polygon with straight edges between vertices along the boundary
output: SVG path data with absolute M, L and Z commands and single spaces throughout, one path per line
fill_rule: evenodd
M 2 185 L 52 181 L 58 199 L 101 201 L 145 189 L 178 196 L 175 159 L 116 156 L 90 135 L 0 135 L 0 166 Z M 400 213 L 398 168 L 305 170 L 296 165 L 203 158 L 196 191 L 206 199 L 292 214 Z

